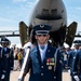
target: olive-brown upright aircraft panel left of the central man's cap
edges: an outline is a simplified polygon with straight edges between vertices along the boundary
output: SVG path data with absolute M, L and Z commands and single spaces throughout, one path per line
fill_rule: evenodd
M 19 38 L 22 46 L 30 39 L 31 25 L 28 27 L 24 22 L 19 23 Z

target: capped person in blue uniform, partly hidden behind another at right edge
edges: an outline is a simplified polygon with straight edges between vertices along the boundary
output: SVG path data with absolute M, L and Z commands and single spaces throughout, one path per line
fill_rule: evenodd
M 79 53 L 79 46 L 81 45 L 81 43 L 79 42 L 79 40 L 76 40 L 73 41 L 75 43 L 75 50 L 73 51 L 70 51 L 69 53 L 69 57 L 68 57 L 68 71 L 70 70 L 70 76 L 71 76 L 71 80 L 72 81 L 76 81 L 75 78 L 73 78 L 73 62 L 75 62 L 75 58 L 77 56 L 77 54 Z

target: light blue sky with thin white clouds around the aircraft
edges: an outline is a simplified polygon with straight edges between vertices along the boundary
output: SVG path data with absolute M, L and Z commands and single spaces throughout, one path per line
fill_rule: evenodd
M 0 0 L 0 31 L 18 30 L 19 22 L 29 21 L 29 14 L 37 0 Z M 67 11 L 68 26 L 78 23 L 81 30 L 81 0 L 63 0 Z M 12 43 L 21 43 L 19 37 L 9 38 Z

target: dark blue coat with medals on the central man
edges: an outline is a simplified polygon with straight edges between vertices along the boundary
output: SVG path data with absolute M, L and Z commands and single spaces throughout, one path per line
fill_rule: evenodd
M 48 45 L 44 60 L 41 62 L 38 45 L 31 50 L 25 72 L 30 70 L 29 81 L 62 81 L 62 55 L 56 49 Z M 56 63 L 56 64 L 55 64 Z

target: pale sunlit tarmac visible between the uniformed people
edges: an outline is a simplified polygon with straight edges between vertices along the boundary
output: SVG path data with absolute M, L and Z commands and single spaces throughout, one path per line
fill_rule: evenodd
M 10 81 L 18 81 L 19 71 L 12 71 Z M 29 75 L 26 76 L 25 81 L 28 81 Z M 67 71 L 63 72 L 63 81 L 70 81 L 70 75 Z

